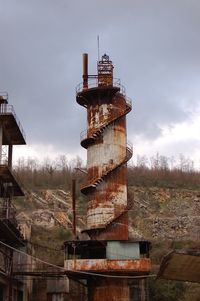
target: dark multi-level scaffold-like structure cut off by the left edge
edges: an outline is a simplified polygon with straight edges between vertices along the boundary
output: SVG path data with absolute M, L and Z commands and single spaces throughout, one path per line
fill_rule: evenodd
M 0 93 L 0 299 L 22 300 L 23 292 L 16 292 L 17 280 L 13 276 L 13 248 L 25 245 L 24 238 L 16 220 L 16 209 L 12 199 L 24 196 L 22 187 L 12 170 L 13 145 L 23 145 L 25 134 L 15 114 L 13 106 L 8 104 L 8 94 Z M 15 298 L 15 299 L 14 299 Z

